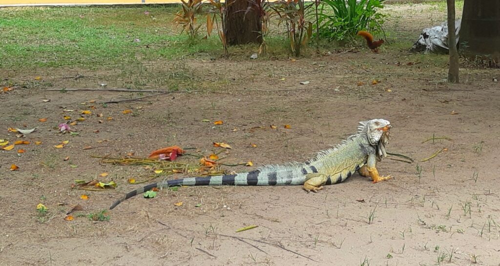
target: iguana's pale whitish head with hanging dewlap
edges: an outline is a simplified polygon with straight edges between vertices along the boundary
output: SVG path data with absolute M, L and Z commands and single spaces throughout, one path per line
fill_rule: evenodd
M 384 119 L 371 119 L 366 121 L 366 138 L 370 145 L 375 146 L 375 155 L 377 160 L 381 160 L 387 154 L 385 153 L 385 144 L 389 140 L 390 122 Z

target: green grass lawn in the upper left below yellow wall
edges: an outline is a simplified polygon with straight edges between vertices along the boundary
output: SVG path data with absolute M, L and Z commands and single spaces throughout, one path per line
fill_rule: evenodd
M 148 10 L 149 14 L 144 14 Z M 172 7 L 0 9 L 0 68 L 133 64 L 220 52 L 216 36 L 189 45 Z M 203 33 L 202 33 L 203 34 Z M 140 41 L 134 41 L 138 39 Z

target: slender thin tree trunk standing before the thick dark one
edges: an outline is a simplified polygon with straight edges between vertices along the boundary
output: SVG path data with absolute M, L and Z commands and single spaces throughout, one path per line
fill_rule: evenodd
M 458 51 L 456 50 L 455 34 L 455 0 L 446 0 L 446 4 L 448 7 L 448 81 L 458 83 Z

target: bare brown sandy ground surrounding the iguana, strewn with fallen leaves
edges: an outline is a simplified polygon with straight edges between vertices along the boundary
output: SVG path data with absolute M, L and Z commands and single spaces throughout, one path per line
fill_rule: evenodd
M 418 32 L 416 22 L 400 25 Z M 141 69 L 0 69 L 8 79 L 2 82 L 16 84 L 0 94 L 0 139 L 18 140 L 8 127 L 37 126 L 20 138 L 30 144 L 0 151 L 0 264 L 498 265 L 500 85 L 492 81 L 498 71 L 466 66 L 460 69 L 462 83 L 447 84 L 440 81 L 446 67 L 445 56 L 412 55 L 401 48 L 297 60 L 158 60 Z M 63 78 L 77 73 L 85 77 Z M 172 79 L 181 80 L 180 89 L 201 91 L 105 105 L 89 101 L 145 94 L 43 91 L 98 88 L 99 82 L 120 88 L 136 80 L 160 89 Z M 373 85 L 373 79 L 380 82 Z M 310 83 L 300 85 L 304 80 Z M 78 135 L 58 132 L 64 115 L 74 119 L 87 109 L 93 113 L 73 126 Z M 123 114 L 125 109 L 131 113 Z M 128 178 L 151 173 L 140 166 L 99 164 L 91 155 L 146 156 L 173 144 L 210 154 L 218 150 L 213 141 L 226 142 L 233 147 L 225 154 L 229 162 L 251 160 L 254 166 L 225 169 L 247 171 L 303 161 L 369 118 L 388 119 L 393 125 L 388 150 L 415 160 L 383 160 L 379 171 L 394 179 L 372 184 L 355 174 L 319 193 L 300 186 L 181 187 L 152 199 L 131 198 L 107 212 L 108 221 L 78 215 L 108 208 L 138 187 Z M 252 129 L 258 126 L 264 128 Z M 451 140 L 422 143 L 433 135 Z M 63 140 L 69 143 L 53 147 Z M 19 148 L 25 152 L 17 154 Z M 420 162 L 442 148 L 447 150 Z M 12 163 L 19 169 L 10 171 Z M 109 175 L 98 177 L 102 172 Z M 118 186 L 71 188 L 75 179 L 96 176 Z M 174 206 L 179 201 L 182 206 Z M 37 213 L 38 203 L 48 212 Z M 83 210 L 64 220 L 76 203 Z M 258 227 L 235 232 L 253 224 Z

